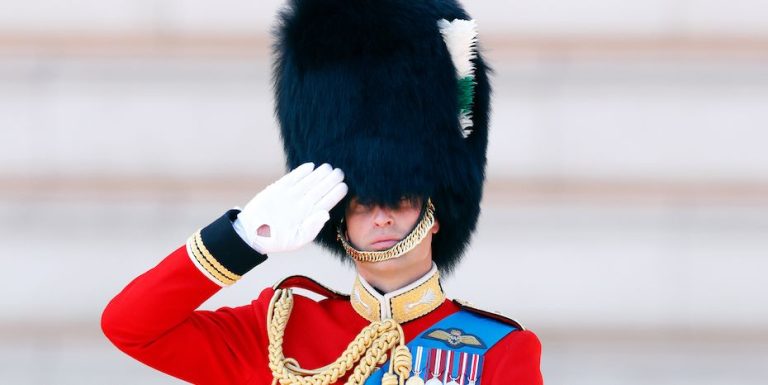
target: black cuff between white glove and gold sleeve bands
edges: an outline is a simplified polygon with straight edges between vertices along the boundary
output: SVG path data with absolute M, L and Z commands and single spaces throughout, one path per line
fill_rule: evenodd
M 267 260 L 267 256 L 249 246 L 237 234 L 232 222 L 240 210 L 227 211 L 219 219 L 200 230 L 203 245 L 227 270 L 243 275 Z

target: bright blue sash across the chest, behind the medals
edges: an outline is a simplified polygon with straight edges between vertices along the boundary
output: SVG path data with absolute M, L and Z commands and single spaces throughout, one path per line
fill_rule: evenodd
M 440 381 L 444 381 L 442 383 L 447 383 L 451 379 L 461 383 L 462 381 L 458 379 L 461 374 L 461 358 L 466 356 L 469 362 L 466 364 L 463 383 L 465 385 L 469 384 L 469 375 L 473 372 L 472 369 L 474 369 L 474 379 L 476 380 L 474 384 L 480 385 L 485 352 L 514 330 L 516 328 L 512 325 L 483 317 L 467 310 L 459 310 L 428 327 L 408 343 L 408 349 L 413 355 L 411 376 L 419 373 L 424 382 L 436 377 Z M 417 368 L 416 352 L 419 347 L 422 348 L 423 354 L 421 364 Z M 428 373 L 427 369 L 430 367 L 429 357 L 433 356 L 438 350 L 443 357 L 443 362 L 442 370 L 435 376 L 435 373 Z M 463 355 L 462 353 L 466 354 Z M 450 362 L 446 361 L 448 355 L 451 358 Z M 476 368 L 472 366 L 473 361 Z M 445 373 L 446 367 L 450 368 L 448 373 L 450 379 L 447 381 L 444 380 L 447 378 Z M 381 378 L 388 369 L 389 361 L 374 371 L 368 377 L 368 380 L 365 381 L 365 385 L 380 385 Z

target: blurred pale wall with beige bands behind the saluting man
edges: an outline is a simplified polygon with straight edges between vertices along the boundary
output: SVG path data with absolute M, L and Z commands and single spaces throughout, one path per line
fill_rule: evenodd
M 107 301 L 283 173 L 277 0 L 0 1 L 0 382 L 176 384 Z M 495 68 L 451 297 L 537 332 L 548 384 L 768 378 L 768 5 L 467 0 Z M 310 247 L 206 308 L 307 274 Z

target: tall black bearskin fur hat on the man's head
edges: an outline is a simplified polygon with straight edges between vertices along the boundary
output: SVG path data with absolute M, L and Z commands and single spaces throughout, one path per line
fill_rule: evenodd
M 452 0 L 291 0 L 275 30 L 274 87 L 288 168 L 341 168 L 347 197 L 364 202 L 431 197 L 440 223 L 432 256 L 449 272 L 480 214 L 490 85 L 478 53 L 465 138 L 441 19 L 470 18 Z M 340 255 L 343 206 L 317 238 Z

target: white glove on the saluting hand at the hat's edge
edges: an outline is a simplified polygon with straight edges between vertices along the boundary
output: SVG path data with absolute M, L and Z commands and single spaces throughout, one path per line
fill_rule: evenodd
M 235 230 L 262 254 L 301 248 L 317 236 L 328 212 L 347 194 L 344 173 L 304 163 L 258 193 L 238 214 Z M 313 170 L 314 169 L 314 170 Z

